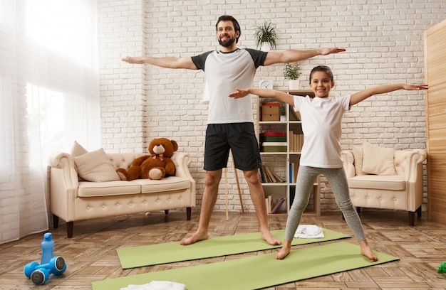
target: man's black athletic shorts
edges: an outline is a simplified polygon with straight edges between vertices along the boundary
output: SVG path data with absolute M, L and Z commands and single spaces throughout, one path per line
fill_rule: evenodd
M 229 149 L 235 167 L 242 171 L 261 167 L 253 123 L 208 124 L 204 145 L 204 170 L 227 167 Z

